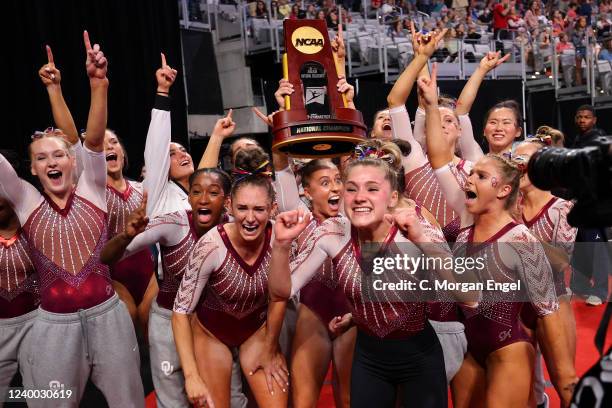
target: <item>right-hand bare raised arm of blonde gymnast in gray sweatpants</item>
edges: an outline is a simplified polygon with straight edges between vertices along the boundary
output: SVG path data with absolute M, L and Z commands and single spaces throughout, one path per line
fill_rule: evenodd
M 94 44 L 93 47 L 91 46 L 87 31 L 83 32 L 83 40 L 87 52 L 85 67 L 91 88 L 85 147 L 92 152 L 102 152 L 104 151 L 104 132 L 106 131 L 107 118 L 108 78 L 106 78 L 106 70 L 108 62 L 104 53 L 100 50 L 100 45 Z

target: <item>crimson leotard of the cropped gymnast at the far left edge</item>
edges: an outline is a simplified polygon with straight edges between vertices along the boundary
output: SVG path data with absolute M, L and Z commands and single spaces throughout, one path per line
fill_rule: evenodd
M 0 319 L 29 313 L 39 303 L 37 274 L 23 232 L 0 237 Z

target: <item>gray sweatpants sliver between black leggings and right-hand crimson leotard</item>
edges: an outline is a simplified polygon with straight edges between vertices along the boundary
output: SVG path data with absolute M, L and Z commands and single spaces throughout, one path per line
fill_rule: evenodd
M 450 381 L 461 368 L 465 353 L 467 353 L 465 326 L 459 322 L 437 322 L 430 320 L 429 323 L 431 323 L 436 331 L 440 345 L 442 345 L 446 381 L 450 384 Z

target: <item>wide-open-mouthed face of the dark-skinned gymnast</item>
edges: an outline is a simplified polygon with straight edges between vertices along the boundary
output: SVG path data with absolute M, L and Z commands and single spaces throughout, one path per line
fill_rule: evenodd
M 198 235 L 204 235 L 221 220 L 226 195 L 215 173 L 200 173 L 191 182 L 189 204 Z

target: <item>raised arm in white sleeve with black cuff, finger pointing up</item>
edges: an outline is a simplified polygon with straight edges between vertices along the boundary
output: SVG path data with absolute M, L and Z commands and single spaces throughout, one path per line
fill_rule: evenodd
M 158 209 L 159 203 L 167 194 L 168 172 L 170 171 L 170 139 L 172 121 L 170 117 L 170 87 L 176 79 L 176 70 L 166 63 L 166 56 L 161 54 L 162 66 L 155 72 L 157 94 L 155 106 L 151 111 L 151 122 L 145 142 L 145 167 L 147 175 L 143 188 L 149 194 L 147 214 L 149 216 L 164 213 Z

